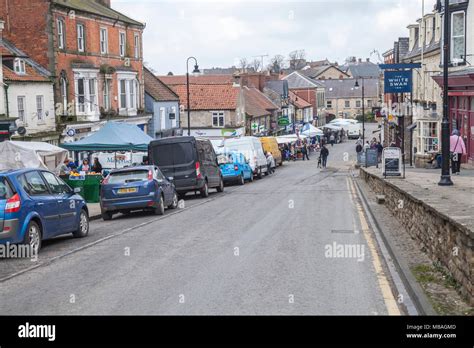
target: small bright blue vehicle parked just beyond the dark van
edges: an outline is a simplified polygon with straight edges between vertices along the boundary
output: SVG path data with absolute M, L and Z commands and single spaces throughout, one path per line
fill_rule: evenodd
M 244 185 L 245 181 L 253 181 L 253 172 L 245 156 L 239 152 L 229 152 L 219 156 L 224 183 L 236 182 Z

